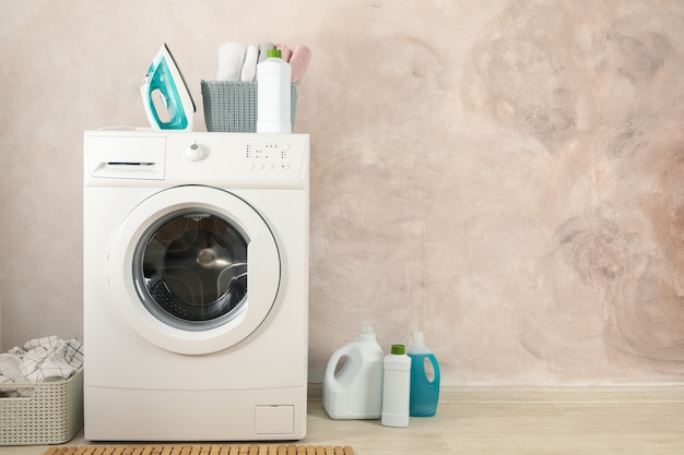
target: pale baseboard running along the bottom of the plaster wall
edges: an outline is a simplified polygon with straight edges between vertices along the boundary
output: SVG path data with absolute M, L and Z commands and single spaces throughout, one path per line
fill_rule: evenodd
M 322 384 L 308 387 L 309 402 L 322 399 Z M 684 403 L 684 385 L 648 386 L 447 386 L 440 403 Z

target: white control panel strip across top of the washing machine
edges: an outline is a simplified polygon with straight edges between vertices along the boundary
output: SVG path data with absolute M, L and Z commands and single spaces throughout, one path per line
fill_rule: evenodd
M 96 178 L 223 188 L 308 181 L 308 134 L 98 131 L 85 145 L 87 175 Z

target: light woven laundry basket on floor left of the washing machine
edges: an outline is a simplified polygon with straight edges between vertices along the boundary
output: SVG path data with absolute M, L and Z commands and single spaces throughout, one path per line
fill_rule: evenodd
M 0 397 L 0 445 L 61 444 L 83 427 L 83 369 L 66 381 L 0 384 L 33 390 L 28 397 Z

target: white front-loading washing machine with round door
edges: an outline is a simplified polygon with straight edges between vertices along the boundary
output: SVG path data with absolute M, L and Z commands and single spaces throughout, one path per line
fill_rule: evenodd
M 309 137 L 84 133 L 84 436 L 306 433 Z

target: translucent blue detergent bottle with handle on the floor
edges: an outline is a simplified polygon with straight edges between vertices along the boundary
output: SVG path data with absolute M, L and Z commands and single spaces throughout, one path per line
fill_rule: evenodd
M 439 402 L 439 363 L 425 346 L 423 332 L 413 333 L 413 343 L 408 355 L 411 357 L 409 414 L 412 417 L 434 416 Z

